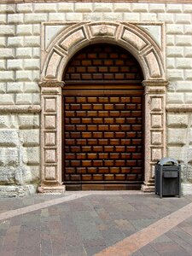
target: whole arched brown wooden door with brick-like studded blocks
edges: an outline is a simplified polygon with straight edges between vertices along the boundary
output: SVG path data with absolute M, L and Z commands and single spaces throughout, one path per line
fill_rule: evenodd
M 93 44 L 63 76 L 63 183 L 74 189 L 140 189 L 143 73 L 112 44 Z

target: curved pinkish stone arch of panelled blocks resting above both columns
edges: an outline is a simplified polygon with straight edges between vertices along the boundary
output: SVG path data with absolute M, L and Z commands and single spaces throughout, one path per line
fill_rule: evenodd
M 136 24 L 125 22 L 79 22 L 61 32 L 44 56 L 42 80 L 61 81 L 67 61 L 88 44 L 119 44 L 137 58 L 144 78 L 165 79 L 163 52 L 147 32 Z M 54 68 L 50 68 L 54 67 Z

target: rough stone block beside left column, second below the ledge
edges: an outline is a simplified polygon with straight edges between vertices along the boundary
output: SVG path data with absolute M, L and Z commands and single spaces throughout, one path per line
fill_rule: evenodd
M 24 147 L 36 147 L 39 146 L 40 137 L 39 130 L 21 130 L 20 140 Z

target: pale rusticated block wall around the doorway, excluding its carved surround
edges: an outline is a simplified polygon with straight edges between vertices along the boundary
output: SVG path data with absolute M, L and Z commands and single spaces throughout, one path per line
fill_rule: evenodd
M 143 22 L 145 30 L 157 42 L 158 34 L 148 24 L 165 23 L 166 80 L 170 83 L 166 100 L 167 155 L 181 161 L 183 179 L 191 181 L 192 4 L 3 3 L 0 5 L 2 188 L 17 184 L 25 190 L 27 184 L 37 184 L 40 177 L 41 23 L 86 20 Z M 32 108 L 38 111 L 31 111 Z

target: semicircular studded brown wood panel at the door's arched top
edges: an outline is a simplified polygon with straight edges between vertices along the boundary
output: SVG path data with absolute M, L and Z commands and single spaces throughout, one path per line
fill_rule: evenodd
M 69 62 L 67 84 L 141 82 L 143 75 L 136 59 L 117 45 L 93 44 L 79 51 Z

